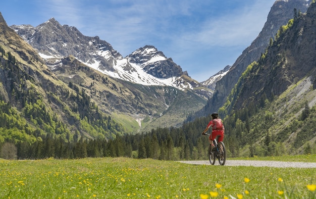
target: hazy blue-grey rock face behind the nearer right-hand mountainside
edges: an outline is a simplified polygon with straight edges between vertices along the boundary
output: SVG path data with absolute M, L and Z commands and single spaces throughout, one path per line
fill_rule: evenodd
M 207 105 L 197 114 L 207 115 L 211 112 L 218 111 L 226 102 L 227 96 L 247 66 L 251 62 L 259 59 L 261 53 L 264 53 L 266 47 L 269 45 L 270 38 L 274 38 L 279 28 L 287 24 L 289 19 L 293 18 L 294 9 L 304 13 L 309 3 L 310 1 L 306 0 L 276 1 L 259 35 L 251 45 L 242 52 L 242 55 L 238 57 L 230 71 L 217 82 L 213 97 L 210 98 Z

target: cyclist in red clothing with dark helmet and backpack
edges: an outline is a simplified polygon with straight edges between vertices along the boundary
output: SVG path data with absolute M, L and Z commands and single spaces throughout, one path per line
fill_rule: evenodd
M 205 134 L 206 131 L 212 127 L 212 133 L 208 137 L 208 142 L 211 145 L 211 148 L 214 148 L 213 140 L 218 136 L 218 141 L 223 141 L 225 128 L 223 121 L 219 118 L 219 114 L 214 112 L 212 113 L 212 120 L 209 121 L 206 128 L 203 130 L 202 134 Z

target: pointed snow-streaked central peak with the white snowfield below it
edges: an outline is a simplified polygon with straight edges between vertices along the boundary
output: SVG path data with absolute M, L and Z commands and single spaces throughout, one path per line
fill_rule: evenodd
M 99 56 L 111 58 L 110 51 L 98 52 Z M 158 52 L 154 46 L 144 46 L 126 58 L 120 57 L 113 63 L 113 70 L 103 68 L 101 61 L 84 63 L 111 77 L 138 83 L 142 85 L 167 85 L 179 89 L 193 88 L 191 84 L 182 81 L 182 69 L 171 59 L 166 58 L 162 52 Z M 176 69 L 176 70 L 175 70 Z

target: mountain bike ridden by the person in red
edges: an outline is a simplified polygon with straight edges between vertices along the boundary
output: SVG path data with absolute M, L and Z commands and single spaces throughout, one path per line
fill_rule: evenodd
M 203 135 L 210 135 L 209 133 L 203 133 Z M 224 166 L 226 162 L 226 149 L 224 142 L 217 143 L 217 137 L 213 140 L 214 148 L 208 146 L 208 160 L 209 163 L 214 165 L 216 158 L 219 160 L 220 165 Z

